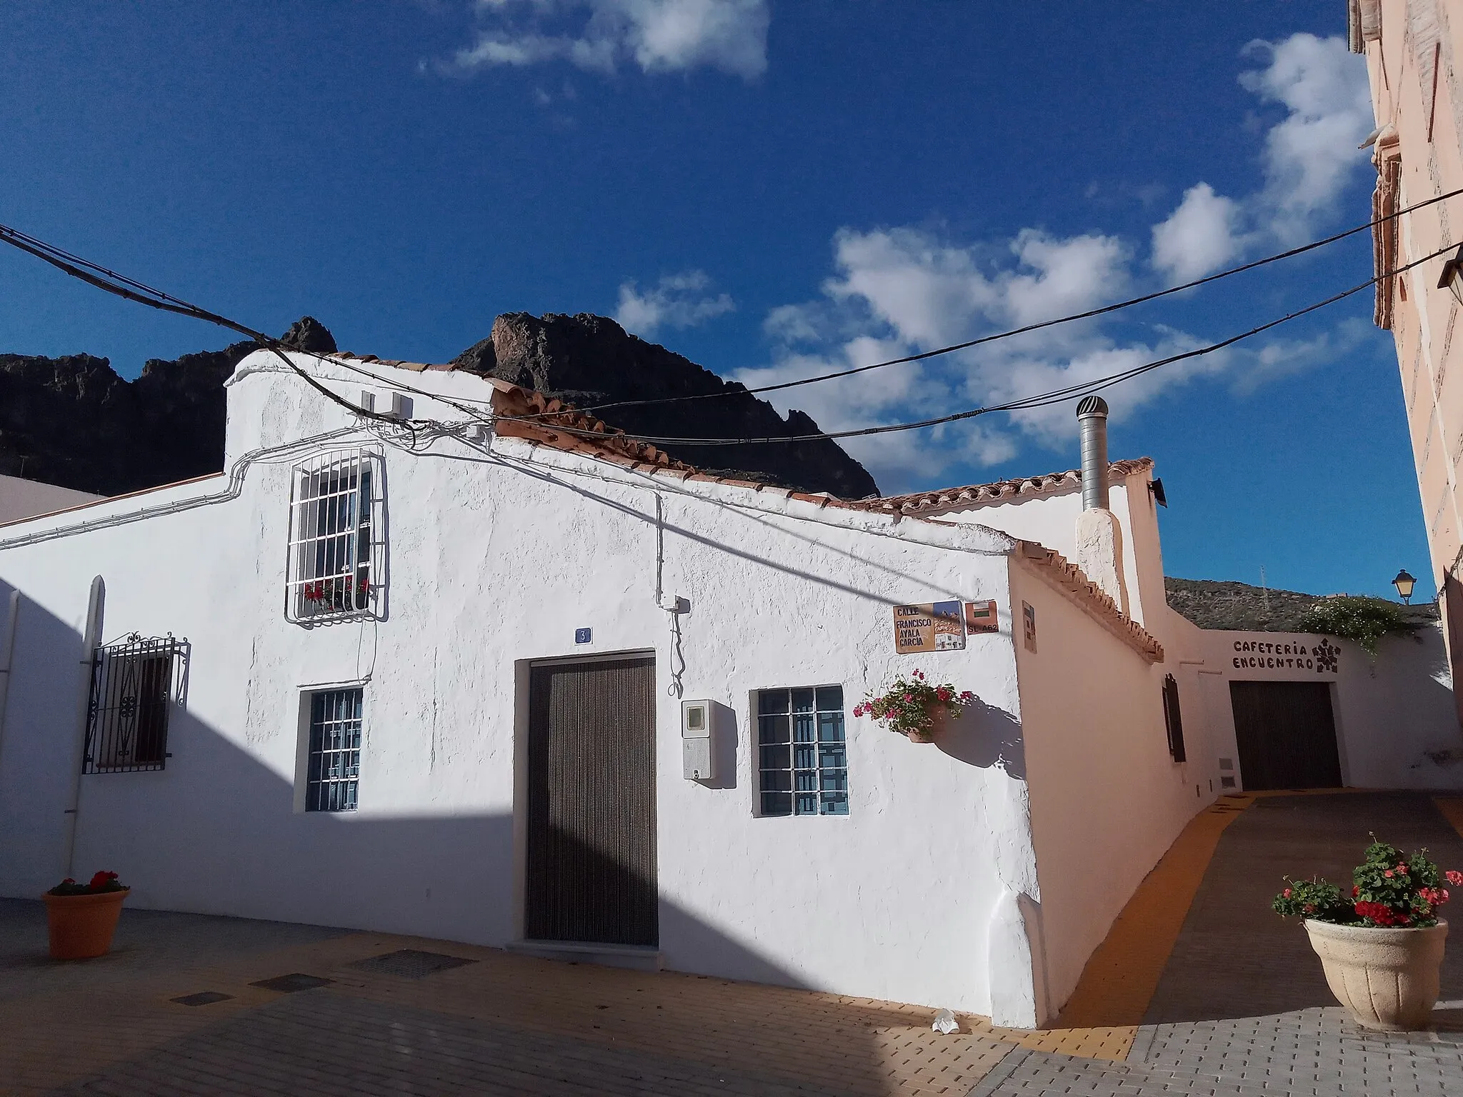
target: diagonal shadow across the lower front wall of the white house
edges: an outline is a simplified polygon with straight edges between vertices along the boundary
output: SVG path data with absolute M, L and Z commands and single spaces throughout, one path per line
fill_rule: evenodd
M 10 589 L 0 582 L 0 629 Z M 116 627 L 108 626 L 111 632 Z M 4 895 L 35 898 L 67 875 L 66 813 L 83 731 L 80 658 L 80 635 L 22 597 L 0 742 Z M 195 682 L 208 658 L 209 652 L 195 652 Z M 129 905 L 135 908 L 480 945 L 514 940 L 521 921 L 515 917 L 512 816 L 372 815 L 372 783 L 385 777 L 373 762 L 386 752 L 373 759 L 370 737 L 367 728 L 361 810 L 297 812 L 293 774 L 275 772 L 196 718 L 184 698 L 170 714 L 165 769 L 80 778 L 70 875 L 119 872 L 133 888 Z M 293 758 L 294 744 L 277 753 Z M 613 851 L 575 844 L 584 863 L 598 866 L 588 878 L 625 873 Z M 598 897 L 581 898 L 594 902 Z M 657 905 L 661 946 L 667 957 L 674 952 L 679 970 L 802 986 L 756 952 L 755 942 L 730 939 L 664 895 Z M 756 926 L 746 932 L 755 938 Z

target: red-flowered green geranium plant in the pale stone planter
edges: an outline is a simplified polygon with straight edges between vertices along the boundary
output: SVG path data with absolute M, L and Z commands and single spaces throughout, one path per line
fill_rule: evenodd
M 1375 841 L 1366 847 L 1366 860 L 1352 869 L 1352 894 L 1343 895 L 1334 883 L 1312 876 L 1292 881 L 1270 902 L 1285 917 L 1331 921 L 1337 926 L 1402 926 L 1438 924 L 1438 907 L 1448 901 L 1445 879 L 1454 888 L 1463 886 L 1463 872 L 1438 872 L 1428 860 L 1426 850 L 1404 859 L 1396 845 Z

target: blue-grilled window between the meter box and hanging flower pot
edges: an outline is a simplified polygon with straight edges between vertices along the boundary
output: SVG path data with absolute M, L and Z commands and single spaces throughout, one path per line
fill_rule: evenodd
M 756 695 L 761 815 L 847 815 L 843 686 Z

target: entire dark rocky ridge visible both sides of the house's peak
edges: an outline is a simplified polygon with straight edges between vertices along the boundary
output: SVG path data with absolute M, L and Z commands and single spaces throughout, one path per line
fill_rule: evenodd
M 284 342 L 317 353 L 336 350 L 331 332 L 309 316 L 285 332 Z M 252 350 L 253 342 L 236 342 L 173 361 L 152 358 L 130 382 L 107 358 L 91 354 L 0 354 L 0 472 L 98 494 L 218 472 L 224 465 L 224 380 Z M 506 313 L 456 364 L 578 405 L 727 393 L 601 414 L 633 434 L 762 437 L 818 430 L 808 415 L 793 411 L 783 418 L 743 386 L 603 316 Z M 661 448 L 724 475 L 844 499 L 878 493 L 873 478 L 834 442 Z

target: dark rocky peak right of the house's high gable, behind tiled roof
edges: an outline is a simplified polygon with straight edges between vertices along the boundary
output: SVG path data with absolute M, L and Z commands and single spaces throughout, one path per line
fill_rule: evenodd
M 454 364 L 552 393 L 581 408 L 629 401 L 629 407 L 595 412 L 629 434 L 712 439 L 818 433 L 818 424 L 802 411 L 793 410 L 783 418 L 743 385 L 721 380 L 689 358 L 590 313 L 503 313 L 493 320 L 492 333 L 462 351 Z M 702 399 L 635 404 L 669 396 Z M 707 472 L 828 491 L 840 499 L 879 493 L 863 465 L 827 439 L 733 446 L 655 445 Z

